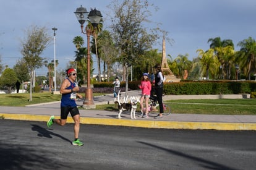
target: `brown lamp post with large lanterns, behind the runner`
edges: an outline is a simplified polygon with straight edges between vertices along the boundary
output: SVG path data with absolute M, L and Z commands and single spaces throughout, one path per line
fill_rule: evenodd
M 100 11 L 96 9 L 92 9 L 88 14 L 87 10 L 80 6 L 74 12 L 77 20 L 80 23 L 80 27 L 83 34 L 87 35 L 87 89 L 85 90 L 85 100 L 83 101 L 83 108 L 95 108 L 95 104 L 93 103 L 93 90 L 90 85 L 90 36 L 94 33 L 94 28 L 97 27 L 98 23 L 100 23 L 102 19 L 102 15 Z M 87 16 L 88 14 L 88 16 Z M 85 27 L 85 31 L 83 31 L 83 24 L 85 21 L 90 21 L 93 26 L 93 30 L 90 27 Z

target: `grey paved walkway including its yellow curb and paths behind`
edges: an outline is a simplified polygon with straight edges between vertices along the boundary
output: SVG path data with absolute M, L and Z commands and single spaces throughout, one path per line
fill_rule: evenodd
M 122 93 L 122 96 L 125 94 Z M 140 91 L 129 91 L 129 96 L 139 96 Z M 205 99 L 205 98 L 248 98 L 248 95 L 190 95 L 190 96 L 164 96 L 163 100 L 172 99 Z M 83 101 L 77 101 L 82 105 Z M 114 103 L 113 94 L 96 96 L 95 104 Z M 27 107 L 0 106 L 0 116 L 5 119 L 48 121 L 49 116 L 60 115 L 60 102 L 34 104 Z M 205 114 L 175 114 L 154 119 L 156 114 L 149 118 L 139 117 L 130 119 L 129 112 L 122 113 L 122 119 L 117 119 L 117 111 L 100 111 L 94 109 L 80 109 L 82 124 L 121 125 L 130 127 L 164 128 L 164 129 L 216 129 L 216 130 L 256 130 L 256 116 L 238 115 L 205 115 Z M 73 122 L 69 117 L 67 122 Z

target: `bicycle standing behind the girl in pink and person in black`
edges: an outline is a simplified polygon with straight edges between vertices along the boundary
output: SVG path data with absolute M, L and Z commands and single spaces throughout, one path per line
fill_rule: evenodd
M 144 112 L 146 110 L 145 104 L 143 104 Z M 150 103 L 148 103 L 148 113 L 154 113 L 154 114 L 159 114 L 159 104 L 156 99 L 156 96 L 150 96 Z M 164 103 L 163 101 L 163 115 L 167 116 L 171 113 L 171 107 L 168 106 L 167 104 Z M 142 110 L 140 110 L 142 112 Z M 143 112 L 142 112 L 143 113 Z

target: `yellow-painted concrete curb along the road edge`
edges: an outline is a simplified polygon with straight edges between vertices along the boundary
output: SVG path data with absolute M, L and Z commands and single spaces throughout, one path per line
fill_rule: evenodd
M 47 122 L 49 116 L 33 114 L 6 114 L 0 113 L 4 119 L 20 121 L 40 121 Z M 59 116 L 56 116 L 59 118 Z M 73 123 L 73 119 L 68 117 L 67 123 Z M 143 127 L 155 129 L 201 129 L 201 130 L 256 130 L 256 124 L 253 123 L 229 123 L 229 122 L 172 122 L 172 121 L 141 121 L 130 119 L 111 119 L 80 117 L 81 124 L 95 125 L 119 125 L 127 127 Z

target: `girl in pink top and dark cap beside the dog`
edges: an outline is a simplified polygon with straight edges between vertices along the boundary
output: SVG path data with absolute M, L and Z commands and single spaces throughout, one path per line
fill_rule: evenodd
M 139 88 L 142 90 L 142 96 L 140 97 L 140 109 L 142 111 L 142 117 L 148 118 L 148 100 L 150 98 L 151 83 L 147 73 L 143 73 Z M 145 99 L 146 109 L 144 111 L 143 101 Z

